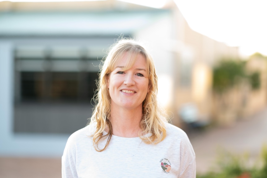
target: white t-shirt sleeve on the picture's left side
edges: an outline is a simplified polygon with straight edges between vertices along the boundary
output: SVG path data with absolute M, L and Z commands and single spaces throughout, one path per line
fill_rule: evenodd
M 70 137 L 65 146 L 61 159 L 62 178 L 78 178 L 76 170 L 76 144 Z

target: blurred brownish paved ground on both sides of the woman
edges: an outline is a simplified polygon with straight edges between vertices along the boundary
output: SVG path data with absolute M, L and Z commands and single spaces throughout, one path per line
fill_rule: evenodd
M 197 172 L 205 172 L 216 163 L 218 148 L 233 153 L 249 152 L 252 163 L 259 157 L 264 143 L 267 144 L 267 107 L 258 114 L 238 121 L 228 128 L 212 128 L 190 134 L 195 149 Z M 0 158 L 2 178 L 60 178 L 60 158 Z

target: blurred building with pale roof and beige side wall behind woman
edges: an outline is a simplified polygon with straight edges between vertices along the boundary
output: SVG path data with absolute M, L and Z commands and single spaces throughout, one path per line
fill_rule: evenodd
M 211 113 L 211 67 L 237 48 L 191 30 L 173 2 L 0 2 L 0 155 L 62 155 L 90 117 L 99 59 L 121 34 L 154 57 L 173 124 L 184 103 Z

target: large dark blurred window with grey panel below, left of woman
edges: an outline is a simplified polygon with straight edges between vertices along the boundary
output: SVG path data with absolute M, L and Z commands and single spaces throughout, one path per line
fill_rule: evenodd
M 102 51 L 96 47 L 17 46 L 14 132 L 72 133 L 84 127 L 92 113 Z

